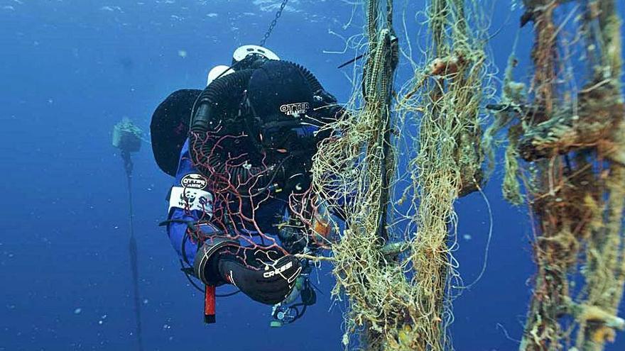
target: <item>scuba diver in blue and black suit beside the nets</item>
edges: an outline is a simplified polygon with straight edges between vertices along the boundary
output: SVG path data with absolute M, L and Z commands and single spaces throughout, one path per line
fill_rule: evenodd
M 175 91 L 156 108 L 153 153 L 175 177 L 161 224 L 183 272 L 205 284 L 206 323 L 224 284 L 274 305 L 286 323 L 281 306 L 315 302 L 302 279 L 310 261 L 293 255 L 319 249 L 300 218 L 314 211 L 305 200 L 312 157 L 332 134 L 322 126 L 343 113 L 308 69 L 256 45 L 211 69 L 205 89 Z M 291 321 L 303 314 L 295 310 Z

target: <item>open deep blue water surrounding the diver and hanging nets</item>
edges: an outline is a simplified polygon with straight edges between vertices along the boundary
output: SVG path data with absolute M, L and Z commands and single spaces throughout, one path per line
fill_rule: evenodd
M 359 1 L 290 0 L 266 46 L 308 67 L 339 101 L 352 92 L 361 52 L 344 39 L 362 33 Z M 503 76 L 523 13 L 494 2 L 491 53 Z M 521 2 L 521 1 L 517 1 Z M 622 1 L 619 2 L 623 13 Z M 421 0 L 396 1 L 411 38 L 425 33 Z M 112 128 L 131 118 L 148 130 L 158 104 L 177 89 L 203 89 L 214 65 L 239 45 L 256 44 L 278 0 L 0 0 L 0 351 L 138 350 L 129 260 L 128 198 Z M 530 72 L 532 29 L 521 30 L 517 77 Z M 413 58 L 422 60 L 418 50 Z M 410 72 L 402 58 L 398 82 Z M 145 350 L 342 350 L 345 305 L 332 302 L 330 266 L 305 317 L 270 328 L 270 308 L 239 294 L 217 301 L 217 323 L 203 325 L 203 296 L 180 272 L 165 230 L 172 179 L 144 143 L 134 160 Z M 526 208 L 501 199 L 501 164 L 485 193 L 494 228 L 487 269 L 455 300 L 456 350 L 517 350 L 531 282 Z M 489 233 L 479 194 L 457 201 L 464 282 L 484 262 Z M 318 281 L 317 281 L 318 277 Z M 227 289 L 224 289 L 224 291 Z M 625 316 L 625 308 L 621 308 Z M 625 350 L 624 333 L 607 350 Z

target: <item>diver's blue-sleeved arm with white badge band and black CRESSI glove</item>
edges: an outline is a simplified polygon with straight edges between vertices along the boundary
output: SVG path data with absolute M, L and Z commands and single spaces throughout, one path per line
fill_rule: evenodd
M 210 224 L 214 208 L 205 207 L 206 201 L 199 196 L 212 196 L 204 190 L 180 186 L 180 180 L 189 174 L 199 175 L 190 163 L 185 144 L 170 192 L 168 221 L 163 223 L 184 262 L 183 271 L 207 285 L 234 284 L 260 303 L 282 301 L 295 286 L 301 271 L 299 261 L 275 248 L 242 247 L 237 238 L 224 235 Z

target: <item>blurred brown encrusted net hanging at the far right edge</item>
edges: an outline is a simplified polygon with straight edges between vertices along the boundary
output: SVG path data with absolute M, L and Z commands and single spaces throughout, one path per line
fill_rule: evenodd
M 523 1 L 533 77 L 506 69 L 496 122 L 507 128 L 504 196 L 523 180 L 538 266 L 521 350 L 603 350 L 625 321 L 625 126 L 615 1 Z M 575 74 L 577 72 L 577 74 Z M 581 72 L 581 74 L 580 74 Z

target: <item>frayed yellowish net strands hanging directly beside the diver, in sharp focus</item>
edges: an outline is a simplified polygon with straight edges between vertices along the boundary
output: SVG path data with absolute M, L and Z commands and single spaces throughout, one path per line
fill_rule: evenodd
M 363 350 L 452 348 L 454 201 L 482 182 L 483 87 L 489 81 L 477 1 L 433 0 L 426 60 L 393 88 L 392 1 L 367 1 L 362 94 L 327 126 L 312 167 L 315 199 L 345 213 L 332 249 L 335 296 L 349 300 L 343 343 Z M 337 223 L 330 223 L 338 229 Z

